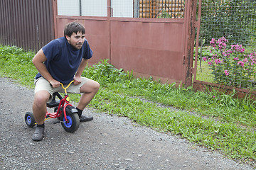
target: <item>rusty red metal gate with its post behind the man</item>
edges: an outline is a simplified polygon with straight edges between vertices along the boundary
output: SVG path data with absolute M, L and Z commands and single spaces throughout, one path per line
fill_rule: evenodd
M 90 64 L 109 59 L 138 77 L 191 86 L 197 2 L 185 1 L 184 18 L 119 18 L 112 17 L 110 0 L 107 17 L 58 16 L 54 1 L 55 38 L 63 36 L 65 24 L 78 21 L 94 52 Z

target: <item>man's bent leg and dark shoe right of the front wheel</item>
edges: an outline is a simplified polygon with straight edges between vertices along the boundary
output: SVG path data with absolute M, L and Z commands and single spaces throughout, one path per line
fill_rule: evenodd
M 95 94 L 97 94 L 99 89 L 100 84 L 91 79 L 81 86 L 80 93 L 82 93 L 82 96 L 77 106 L 80 122 L 86 122 L 93 119 L 92 116 L 86 117 L 85 115 L 82 115 L 82 111 L 90 103 L 90 101 L 92 101 L 92 98 L 95 96 Z

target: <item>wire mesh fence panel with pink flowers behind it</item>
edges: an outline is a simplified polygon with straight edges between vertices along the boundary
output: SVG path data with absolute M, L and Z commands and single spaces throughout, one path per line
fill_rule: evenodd
M 203 0 L 197 79 L 256 86 L 256 1 Z

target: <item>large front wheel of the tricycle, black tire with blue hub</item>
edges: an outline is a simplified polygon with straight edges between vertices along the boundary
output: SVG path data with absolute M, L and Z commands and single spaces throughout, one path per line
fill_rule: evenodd
M 63 126 L 64 130 L 67 132 L 75 132 L 78 130 L 80 125 L 80 119 L 78 113 L 72 113 L 68 108 L 66 108 L 66 115 L 68 119 L 68 123 L 65 121 L 64 112 L 60 115 L 60 122 Z

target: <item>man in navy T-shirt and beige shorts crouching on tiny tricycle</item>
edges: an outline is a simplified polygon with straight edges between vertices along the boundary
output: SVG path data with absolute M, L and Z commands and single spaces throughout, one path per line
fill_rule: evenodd
M 85 40 L 85 28 L 75 22 L 65 26 L 64 37 L 52 40 L 33 57 L 38 74 L 33 101 L 33 115 L 37 125 L 32 140 L 43 140 L 46 103 L 55 91 L 63 92 L 60 83 L 68 84 L 74 80 L 67 91 L 81 94 L 77 106 L 80 122 L 93 119 L 92 116 L 82 115 L 82 111 L 100 88 L 97 81 L 81 77 L 91 57 L 92 50 Z

